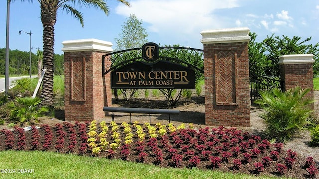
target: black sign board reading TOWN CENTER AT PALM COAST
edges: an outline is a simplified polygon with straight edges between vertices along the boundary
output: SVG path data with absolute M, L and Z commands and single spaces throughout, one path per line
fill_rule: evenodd
M 149 54 L 146 58 L 148 56 L 152 57 Z M 195 89 L 195 71 L 164 60 L 156 63 L 137 61 L 111 72 L 111 88 Z

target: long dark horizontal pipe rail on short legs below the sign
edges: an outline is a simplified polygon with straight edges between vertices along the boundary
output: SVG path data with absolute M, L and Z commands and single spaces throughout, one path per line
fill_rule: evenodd
M 168 114 L 169 123 L 170 115 L 179 115 L 179 110 L 170 110 L 170 109 L 148 109 L 148 108 L 129 108 L 129 107 L 103 107 L 104 112 L 112 112 L 112 121 L 114 121 L 114 112 L 125 112 L 130 113 L 130 123 L 132 124 L 131 114 L 132 113 L 141 113 L 149 114 L 150 123 L 151 123 L 151 114 Z

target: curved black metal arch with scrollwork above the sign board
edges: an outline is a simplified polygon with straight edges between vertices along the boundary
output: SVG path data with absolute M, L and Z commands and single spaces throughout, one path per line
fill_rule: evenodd
M 167 50 L 169 51 L 170 49 L 175 49 L 176 50 L 176 55 L 175 57 L 167 57 L 167 56 L 163 56 L 163 54 L 165 54 L 166 51 L 163 51 L 163 50 Z M 181 52 L 181 50 L 190 50 L 190 51 L 197 51 L 197 52 L 203 52 L 204 50 L 202 49 L 197 49 L 197 48 L 190 48 L 190 47 L 174 47 L 174 46 L 164 46 L 164 47 L 159 47 L 159 59 L 161 60 L 167 60 L 167 61 L 171 61 L 171 62 L 178 62 L 179 64 L 186 64 L 188 68 L 194 68 L 202 73 L 204 73 L 204 70 L 203 69 L 200 69 L 198 68 L 197 66 L 195 65 L 192 65 L 186 61 L 183 61 L 181 60 L 178 56 L 179 56 L 179 53 Z M 127 53 L 126 52 L 130 52 L 132 51 L 131 53 Z M 130 58 L 129 55 L 132 55 L 133 53 L 137 53 L 138 56 L 134 57 L 134 58 Z M 110 56 L 111 58 L 107 58 L 107 56 Z M 124 56 L 124 57 L 122 57 Z M 112 66 L 111 65 L 107 65 L 105 66 L 105 60 L 107 61 L 112 61 L 113 59 L 116 59 L 116 58 L 124 58 L 124 61 L 122 61 L 121 63 L 115 65 L 115 66 Z M 127 59 L 126 57 L 129 57 L 130 59 Z M 135 61 L 142 61 L 143 60 L 143 57 L 142 57 L 142 47 L 140 48 L 132 48 L 132 49 L 126 49 L 126 50 L 120 50 L 120 51 L 117 51 L 117 52 L 112 52 L 112 53 L 108 53 L 108 54 L 105 54 L 105 55 L 102 55 L 102 75 L 104 76 L 105 74 L 109 73 L 110 71 L 113 71 L 113 70 L 116 70 L 124 65 L 127 65 L 127 64 L 130 64 L 132 62 L 135 62 Z M 146 62 L 148 63 L 148 62 Z M 155 62 L 151 62 L 151 63 L 155 63 Z M 185 66 L 186 66 L 185 65 Z M 106 67 L 106 68 L 105 68 Z

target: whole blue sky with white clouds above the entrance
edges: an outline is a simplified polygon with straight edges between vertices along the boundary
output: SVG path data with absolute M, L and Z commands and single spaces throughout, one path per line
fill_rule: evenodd
M 210 29 L 248 27 L 258 34 L 257 41 L 267 35 L 312 37 L 319 42 L 319 0 L 128 0 L 126 7 L 108 0 L 106 16 L 94 8 L 78 8 L 84 16 L 84 28 L 70 14 L 58 11 L 55 25 L 57 54 L 65 40 L 95 38 L 113 43 L 130 14 L 143 21 L 149 42 L 161 45 L 203 48 L 200 32 Z M 15 0 L 10 5 L 11 50 L 29 51 L 29 35 L 19 30 L 31 30 L 31 44 L 42 49 L 42 24 L 37 0 L 32 4 Z M 0 48 L 5 48 L 6 0 L 0 0 Z M 32 50 L 36 53 L 36 49 Z

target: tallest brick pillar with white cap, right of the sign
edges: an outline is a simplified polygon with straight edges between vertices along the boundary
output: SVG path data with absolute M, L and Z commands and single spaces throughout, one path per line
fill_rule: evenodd
M 250 127 L 248 33 L 248 28 L 201 32 L 206 125 Z

